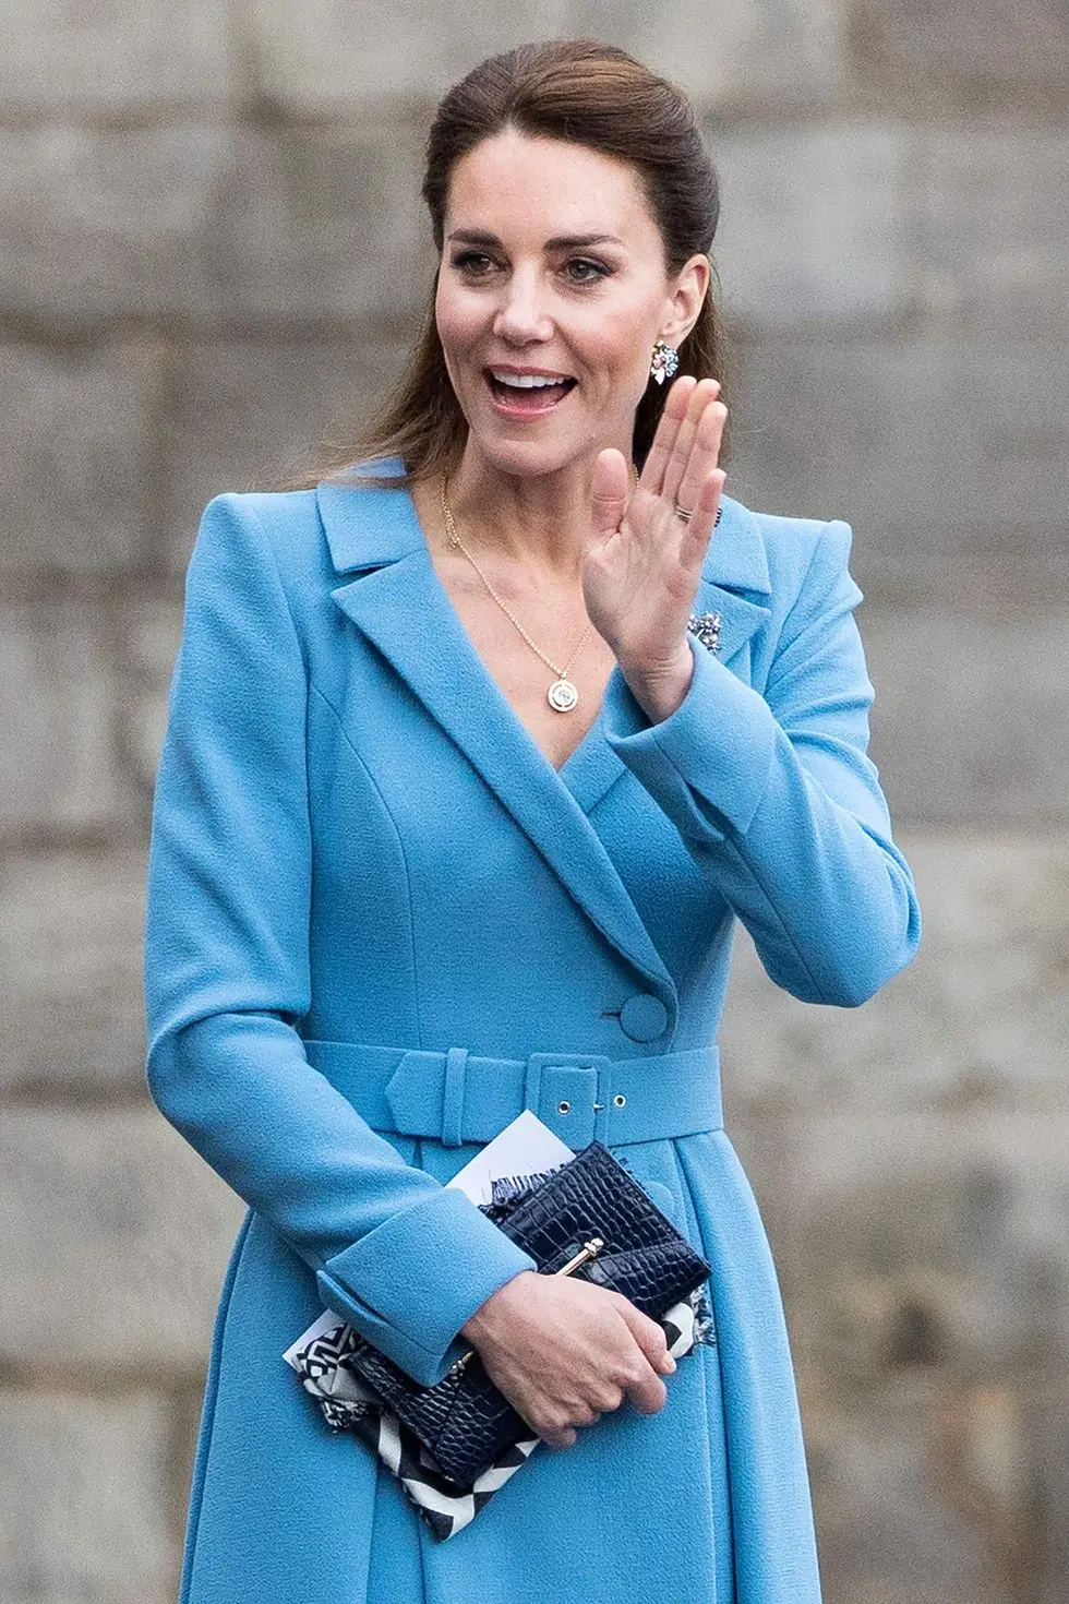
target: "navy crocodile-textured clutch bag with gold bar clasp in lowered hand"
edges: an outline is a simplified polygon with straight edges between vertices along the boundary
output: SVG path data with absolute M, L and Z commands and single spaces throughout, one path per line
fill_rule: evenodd
M 623 1293 L 652 1320 L 712 1274 L 601 1142 L 550 1171 L 511 1211 L 498 1211 L 495 1224 L 532 1256 L 540 1275 L 596 1282 Z M 494 1386 L 478 1352 L 431 1387 L 362 1338 L 346 1365 L 418 1437 L 442 1474 L 462 1485 L 481 1476 L 502 1448 L 530 1439 L 529 1423 Z

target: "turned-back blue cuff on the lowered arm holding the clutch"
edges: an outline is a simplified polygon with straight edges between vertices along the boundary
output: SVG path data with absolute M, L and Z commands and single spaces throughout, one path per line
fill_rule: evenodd
M 335 1253 L 316 1285 L 361 1336 L 434 1386 L 471 1346 L 460 1327 L 498 1286 L 537 1267 L 465 1192 L 442 1187 Z

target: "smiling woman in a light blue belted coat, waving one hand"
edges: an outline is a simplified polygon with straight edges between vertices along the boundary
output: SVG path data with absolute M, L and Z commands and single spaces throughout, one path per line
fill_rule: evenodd
M 736 917 L 814 1003 L 917 945 L 849 529 L 723 494 L 716 181 L 675 88 L 591 43 L 494 58 L 425 196 L 436 298 L 391 409 L 349 472 L 210 502 L 189 566 L 147 1076 L 248 1213 L 183 1604 L 811 1604 L 712 1044 Z M 710 1261 L 716 1343 L 675 1375 L 659 1325 L 444 1185 L 524 1107 Z M 282 1363 L 324 1304 L 422 1384 L 476 1346 L 550 1445 L 450 1541 Z

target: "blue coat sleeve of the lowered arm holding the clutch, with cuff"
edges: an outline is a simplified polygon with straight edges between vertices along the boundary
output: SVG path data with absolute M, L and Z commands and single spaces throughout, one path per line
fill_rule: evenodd
M 149 847 L 147 1084 L 324 1304 L 430 1386 L 474 1309 L 537 1266 L 308 1062 L 308 677 L 250 500 L 208 504 L 186 576 Z

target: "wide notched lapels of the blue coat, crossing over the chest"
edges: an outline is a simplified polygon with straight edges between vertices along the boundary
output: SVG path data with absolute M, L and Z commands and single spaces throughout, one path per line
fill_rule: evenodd
M 337 605 L 420 698 L 606 940 L 646 975 L 675 1022 L 675 982 L 587 816 L 625 772 L 603 739 L 601 719 L 555 772 L 460 622 L 410 494 L 324 483 L 316 496 L 335 569 L 356 574 L 332 590 Z M 756 518 L 724 497 L 697 595 L 699 611 L 721 614 L 723 662 L 740 661 L 768 618 L 766 597 Z

